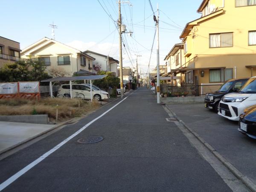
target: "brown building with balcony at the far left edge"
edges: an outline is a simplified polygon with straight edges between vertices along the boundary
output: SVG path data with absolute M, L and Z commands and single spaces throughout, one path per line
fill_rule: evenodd
M 20 43 L 0 36 L 0 67 L 20 60 Z

